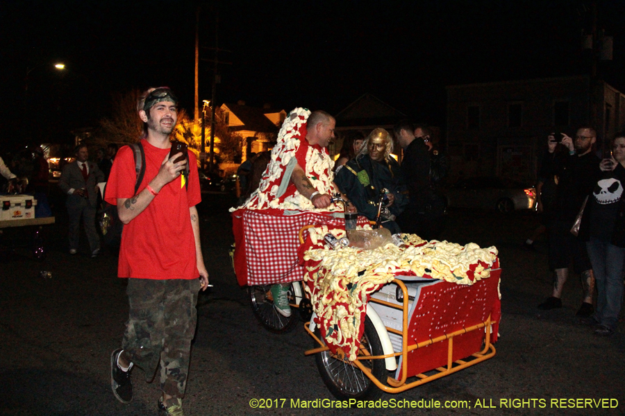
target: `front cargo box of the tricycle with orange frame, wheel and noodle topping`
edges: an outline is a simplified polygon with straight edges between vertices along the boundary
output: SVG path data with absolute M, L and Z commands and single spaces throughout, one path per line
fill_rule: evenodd
M 501 304 L 494 247 L 423 241 L 330 250 L 300 234 L 319 373 L 340 399 L 375 399 L 492 358 Z

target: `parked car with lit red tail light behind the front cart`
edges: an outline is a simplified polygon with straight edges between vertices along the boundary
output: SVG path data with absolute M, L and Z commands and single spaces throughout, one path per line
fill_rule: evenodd
M 499 177 L 460 180 L 443 193 L 448 207 L 497 209 L 503 213 L 515 209 L 532 209 L 536 199 L 533 187 Z

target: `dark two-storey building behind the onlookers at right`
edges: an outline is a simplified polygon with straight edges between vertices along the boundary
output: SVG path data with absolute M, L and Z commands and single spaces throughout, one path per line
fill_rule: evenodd
M 447 89 L 450 180 L 532 182 L 549 132 L 597 129 L 597 150 L 625 125 L 625 96 L 588 76 L 453 85 Z

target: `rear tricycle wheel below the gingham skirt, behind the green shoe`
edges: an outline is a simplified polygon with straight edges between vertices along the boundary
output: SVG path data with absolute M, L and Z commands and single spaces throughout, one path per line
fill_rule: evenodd
M 291 307 L 291 315 L 285 317 L 276 311 L 272 300 L 271 290 L 273 285 L 248 286 L 252 311 L 265 329 L 273 333 L 287 333 L 295 329 L 299 321 L 297 308 Z M 289 286 L 289 303 L 295 304 L 293 284 Z

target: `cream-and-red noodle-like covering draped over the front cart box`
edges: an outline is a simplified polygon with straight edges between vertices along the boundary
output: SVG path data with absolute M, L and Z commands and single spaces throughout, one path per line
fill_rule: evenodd
M 327 226 L 308 229 L 312 248 L 306 250 L 304 281 L 313 309 L 328 345 L 341 347 L 350 361 L 356 360 L 366 304 L 371 293 L 396 275 L 418 275 L 472 285 L 490 277 L 497 248 L 475 243 L 461 246 L 447 241 L 425 241 L 415 234 L 401 234 L 406 247 L 387 244 L 375 250 L 328 249 L 323 236 L 345 236 L 343 229 Z M 313 265 L 313 266 L 308 266 Z M 312 290 L 310 287 L 312 287 Z M 499 295 L 501 299 L 501 295 Z

